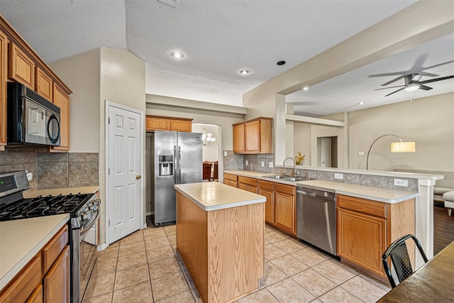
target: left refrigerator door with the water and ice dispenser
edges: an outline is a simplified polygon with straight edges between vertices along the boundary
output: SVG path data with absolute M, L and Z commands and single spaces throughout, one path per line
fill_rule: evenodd
M 175 150 L 177 149 L 177 133 L 175 131 L 155 131 L 155 225 L 174 222 L 176 218 L 175 206 L 175 180 L 177 174 L 170 172 L 172 175 L 160 175 L 160 156 L 161 162 L 169 162 L 170 156 L 173 158 L 173 167 L 175 167 Z M 164 158 L 163 158 L 164 157 Z M 162 165 L 162 163 L 161 163 Z

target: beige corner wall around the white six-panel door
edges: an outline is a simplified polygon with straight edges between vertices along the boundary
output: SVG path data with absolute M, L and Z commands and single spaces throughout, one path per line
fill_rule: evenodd
M 71 151 L 99 152 L 99 187 L 103 202 L 99 231 L 100 242 L 105 243 L 105 104 L 109 100 L 145 113 L 145 62 L 128 50 L 100 48 L 54 62 L 51 67 L 73 92 Z M 145 132 L 143 138 L 145 155 Z

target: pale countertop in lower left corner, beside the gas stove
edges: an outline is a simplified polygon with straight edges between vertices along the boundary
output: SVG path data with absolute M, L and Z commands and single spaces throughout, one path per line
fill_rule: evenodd
M 0 222 L 0 290 L 69 219 L 69 214 L 58 214 Z

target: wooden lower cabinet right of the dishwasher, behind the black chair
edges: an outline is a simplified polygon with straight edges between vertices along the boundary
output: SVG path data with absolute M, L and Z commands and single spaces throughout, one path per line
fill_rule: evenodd
M 382 255 L 397 238 L 414 234 L 414 199 L 387 204 L 338 194 L 337 202 L 338 256 L 389 284 Z M 413 246 L 409 253 L 413 258 Z

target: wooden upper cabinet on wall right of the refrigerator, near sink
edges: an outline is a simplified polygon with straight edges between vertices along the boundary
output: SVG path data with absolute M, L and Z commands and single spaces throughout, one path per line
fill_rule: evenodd
M 272 118 L 233 124 L 234 153 L 272 153 Z

